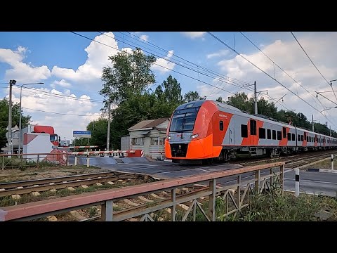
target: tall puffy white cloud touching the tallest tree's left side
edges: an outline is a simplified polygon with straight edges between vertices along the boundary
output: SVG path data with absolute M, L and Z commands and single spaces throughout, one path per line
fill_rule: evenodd
M 77 70 L 54 66 L 51 74 L 72 82 L 86 82 L 89 86 L 92 86 L 93 82 L 100 82 L 103 67 L 110 65 L 108 57 L 114 56 L 117 53 L 118 46 L 112 32 L 105 32 L 105 35 L 98 35 L 94 40 L 112 47 L 91 41 L 89 46 L 84 49 L 84 51 L 88 53 L 88 58 L 84 65 L 79 66 Z

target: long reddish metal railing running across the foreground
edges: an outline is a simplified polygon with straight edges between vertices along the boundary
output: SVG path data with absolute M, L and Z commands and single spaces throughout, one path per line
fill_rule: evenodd
M 263 190 L 270 190 L 275 184 L 278 186 L 279 194 L 283 195 L 284 162 L 166 179 L 137 186 L 4 207 L 0 209 L 0 221 L 34 220 L 95 205 L 101 206 L 102 221 L 124 221 L 134 217 L 138 217 L 139 221 L 154 221 L 153 214 L 159 210 L 169 214 L 169 218 L 164 220 L 196 221 L 198 214 L 207 221 L 216 221 L 230 214 L 241 215 L 242 209 L 249 207 L 251 196 L 262 193 Z M 198 186 L 198 188 L 183 193 L 181 189 L 188 186 Z M 154 193 L 163 190 L 169 191 L 170 197 L 159 197 L 157 201 L 128 209 L 114 209 L 115 202 L 144 195 L 155 195 Z M 216 213 L 218 198 L 225 203 L 225 210 L 221 214 Z M 208 201 L 205 202 L 205 200 Z M 184 211 L 178 210 L 182 205 L 188 208 Z

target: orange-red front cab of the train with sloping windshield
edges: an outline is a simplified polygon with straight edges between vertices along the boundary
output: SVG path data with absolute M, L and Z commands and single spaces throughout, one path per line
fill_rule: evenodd
M 173 162 L 218 157 L 221 146 L 213 145 L 213 115 L 218 111 L 210 100 L 180 105 L 170 119 L 166 133 L 165 155 Z M 223 128 L 227 128 L 223 122 Z M 217 136 L 219 138 L 220 136 Z

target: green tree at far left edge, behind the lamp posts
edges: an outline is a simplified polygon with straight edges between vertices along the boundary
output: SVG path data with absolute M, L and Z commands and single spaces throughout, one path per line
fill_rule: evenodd
M 6 147 L 6 128 L 8 126 L 8 110 L 9 110 L 8 99 L 4 98 L 0 100 L 0 148 Z M 22 112 L 21 112 L 22 113 Z M 20 103 L 15 103 L 12 106 L 12 126 L 19 126 L 20 119 Z M 26 127 L 30 122 L 31 116 L 21 115 L 21 126 L 22 129 Z

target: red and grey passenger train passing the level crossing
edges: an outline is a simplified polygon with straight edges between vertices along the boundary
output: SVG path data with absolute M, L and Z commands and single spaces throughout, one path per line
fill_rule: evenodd
M 173 112 L 165 155 L 173 162 L 227 161 L 240 153 L 273 156 L 336 147 L 337 138 L 249 115 L 214 100 L 197 100 Z

